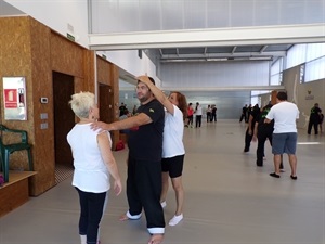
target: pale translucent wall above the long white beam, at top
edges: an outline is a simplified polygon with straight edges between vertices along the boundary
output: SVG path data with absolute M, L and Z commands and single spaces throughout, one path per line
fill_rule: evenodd
M 324 22 L 324 0 L 92 0 L 94 33 Z M 105 24 L 103 23 L 112 23 Z

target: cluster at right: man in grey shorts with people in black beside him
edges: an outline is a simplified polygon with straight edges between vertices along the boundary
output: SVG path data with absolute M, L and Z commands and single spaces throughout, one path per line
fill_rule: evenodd
M 250 141 L 258 141 L 257 166 L 263 166 L 264 143 L 269 139 L 272 145 L 274 172 L 270 176 L 280 178 L 283 171 L 283 154 L 288 154 L 291 168 L 290 178 L 297 180 L 297 125 L 299 110 L 296 104 L 287 101 L 287 93 L 277 92 L 276 104 L 268 104 L 260 111 L 258 104 L 249 116 L 245 136 L 244 152 L 249 151 Z

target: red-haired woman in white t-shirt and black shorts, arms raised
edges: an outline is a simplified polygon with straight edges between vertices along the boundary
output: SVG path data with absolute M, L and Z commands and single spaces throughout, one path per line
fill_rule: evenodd
M 184 120 L 187 114 L 186 98 L 177 91 L 167 98 L 147 76 L 138 77 L 145 82 L 154 93 L 155 98 L 165 106 L 165 127 L 162 139 L 162 192 L 160 196 L 161 206 L 166 207 L 166 195 L 169 185 L 169 177 L 176 192 L 177 210 L 169 221 L 169 226 L 176 226 L 183 219 L 184 190 L 182 184 L 182 171 L 185 156 L 183 144 Z

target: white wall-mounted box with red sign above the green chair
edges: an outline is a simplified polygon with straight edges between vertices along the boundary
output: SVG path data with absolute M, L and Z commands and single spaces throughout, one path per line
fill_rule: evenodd
M 27 120 L 25 77 L 3 77 L 5 120 Z

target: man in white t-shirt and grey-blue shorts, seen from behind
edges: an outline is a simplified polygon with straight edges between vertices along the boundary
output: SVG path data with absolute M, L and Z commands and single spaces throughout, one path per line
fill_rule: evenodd
M 281 155 L 286 153 L 291 167 L 290 178 L 297 180 L 297 125 L 299 110 L 295 103 L 287 101 L 287 93 L 280 91 L 276 95 L 276 104 L 272 106 L 265 117 L 265 123 L 274 119 L 274 131 L 272 136 L 272 153 L 274 160 L 274 172 L 270 176 L 280 178 Z

